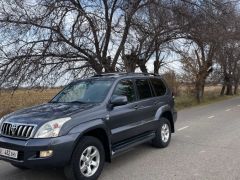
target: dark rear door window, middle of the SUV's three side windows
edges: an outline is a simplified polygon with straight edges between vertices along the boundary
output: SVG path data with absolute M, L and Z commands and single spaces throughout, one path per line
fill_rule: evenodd
M 151 89 L 147 79 L 137 79 L 136 86 L 140 99 L 146 99 L 152 97 Z

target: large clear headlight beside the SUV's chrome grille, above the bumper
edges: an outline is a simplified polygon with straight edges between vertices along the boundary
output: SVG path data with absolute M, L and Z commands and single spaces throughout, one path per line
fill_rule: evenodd
M 40 127 L 40 129 L 37 131 L 34 138 L 51 138 L 51 137 L 57 137 L 59 135 L 59 132 L 67 121 L 71 120 L 70 117 L 61 118 L 61 119 L 55 119 L 53 121 L 47 122 L 44 125 Z

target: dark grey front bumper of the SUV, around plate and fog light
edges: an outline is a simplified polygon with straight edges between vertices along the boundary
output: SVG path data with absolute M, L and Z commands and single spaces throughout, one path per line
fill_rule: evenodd
M 78 134 L 69 134 L 49 139 L 19 140 L 0 136 L 0 147 L 18 151 L 18 158 L 12 159 L 0 156 L 0 160 L 12 164 L 34 167 L 63 167 L 71 159 Z M 39 152 L 53 150 L 47 158 L 40 158 Z

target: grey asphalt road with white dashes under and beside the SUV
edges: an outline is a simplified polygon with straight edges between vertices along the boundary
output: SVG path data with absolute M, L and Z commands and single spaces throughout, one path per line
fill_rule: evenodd
M 138 146 L 106 164 L 100 180 L 239 180 L 240 98 L 179 112 L 165 149 Z M 18 170 L 0 161 L 0 180 L 64 180 L 61 170 Z

